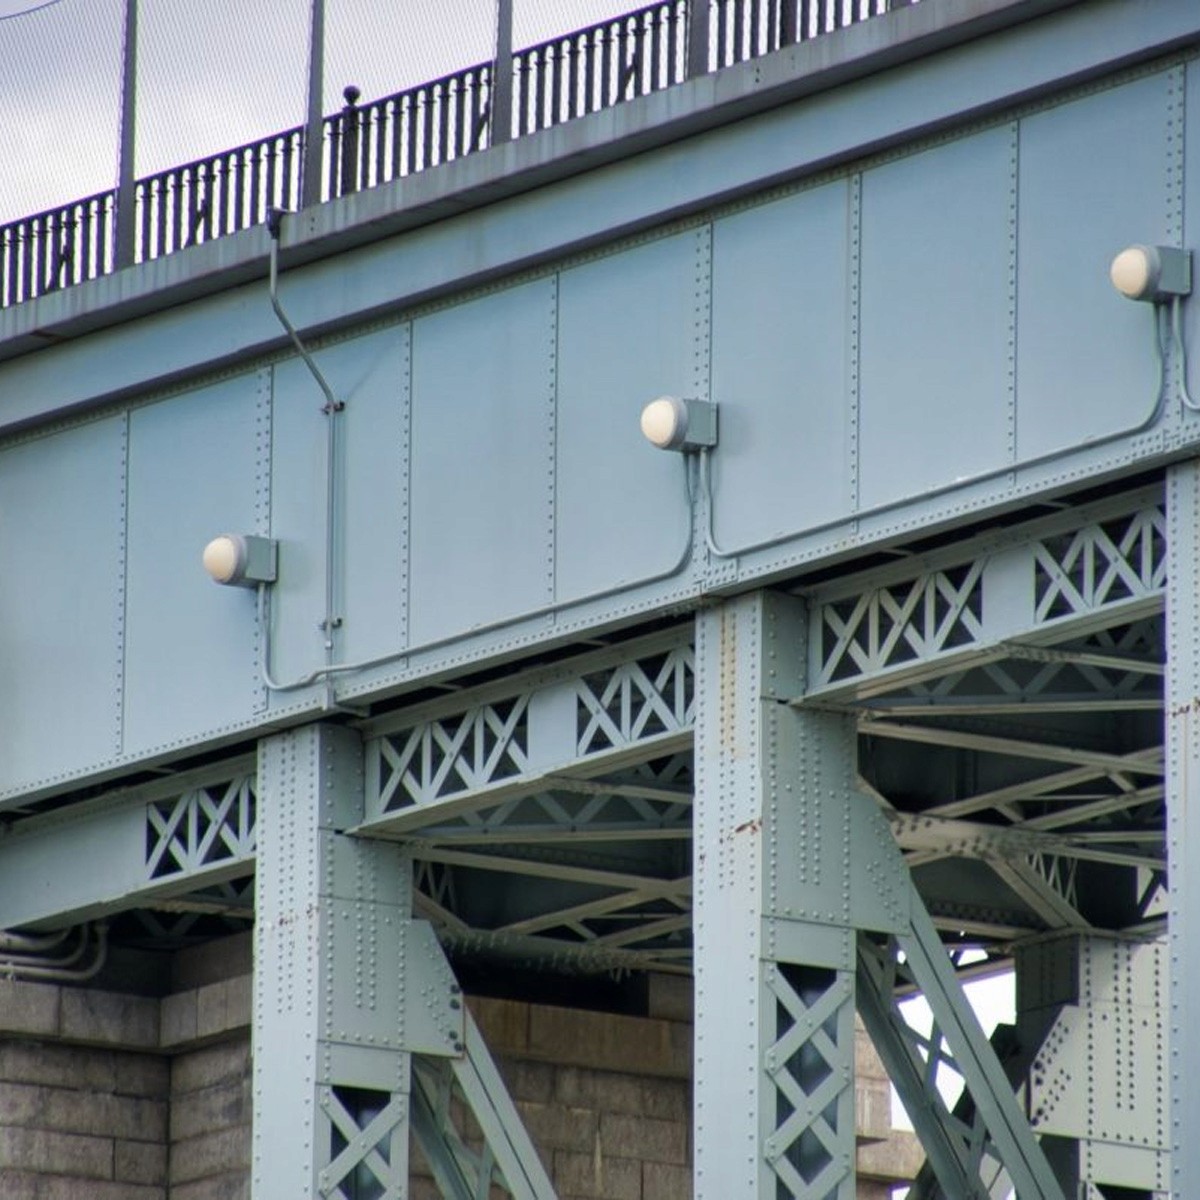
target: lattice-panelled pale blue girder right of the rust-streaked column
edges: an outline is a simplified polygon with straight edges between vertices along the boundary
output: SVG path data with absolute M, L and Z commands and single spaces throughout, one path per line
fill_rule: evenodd
M 1165 522 L 1160 490 L 1145 488 L 816 589 L 804 702 L 875 697 L 1160 612 Z

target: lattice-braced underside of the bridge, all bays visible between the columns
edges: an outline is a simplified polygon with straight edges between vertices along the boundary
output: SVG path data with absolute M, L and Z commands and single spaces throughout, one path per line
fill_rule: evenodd
M 944 936 L 1160 930 L 1160 518 L 1142 488 L 809 598 L 824 682 L 796 703 L 856 714 L 859 786 Z M 358 833 L 407 845 L 451 949 L 689 970 L 691 655 L 679 626 L 365 724 Z M 53 878 L 74 829 L 120 841 L 126 871 L 100 889 L 76 865 L 5 902 L 14 925 L 132 910 L 168 942 L 252 917 L 252 760 L 16 822 L 0 853 Z

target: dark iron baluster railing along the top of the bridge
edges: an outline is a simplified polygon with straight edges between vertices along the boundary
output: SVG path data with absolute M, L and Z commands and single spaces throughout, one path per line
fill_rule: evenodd
M 784 46 L 823 36 L 916 0 L 656 0 L 518 50 L 508 79 L 480 62 L 359 106 L 358 89 L 323 126 L 323 199 L 427 170 L 463 155 L 610 108 Z M 704 13 L 700 28 L 690 23 Z M 511 128 L 492 104 L 511 86 Z M 498 112 L 499 106 L 497 104 Z M 118 262 L 146 262 L 296 208 L 305 131 L 139 179 L 133 245 L 116 245 L 116 192 L 0 226 L 0 307 L 96 278 Z

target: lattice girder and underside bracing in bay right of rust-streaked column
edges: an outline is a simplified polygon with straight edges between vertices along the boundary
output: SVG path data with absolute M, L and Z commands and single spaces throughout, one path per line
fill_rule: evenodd
M 804 703 L 859 714 L 863 786 L 940 924 L 1160 929 L 1159 491 L 906 566 L 814 595 Z

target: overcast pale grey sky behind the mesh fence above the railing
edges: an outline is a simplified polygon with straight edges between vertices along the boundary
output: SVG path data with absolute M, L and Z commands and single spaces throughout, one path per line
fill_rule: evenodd
M 528 46 L 637 7 L 514 0 Z M 116 181 L 125 0 L 0 0 L 0 223 Z M 311 0 L 140 0 L 137 174 L 300 125 Z M 496 0 L 325 0 L 325 112 L 490 59 Z

